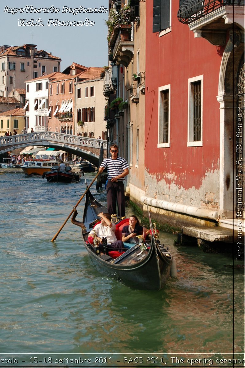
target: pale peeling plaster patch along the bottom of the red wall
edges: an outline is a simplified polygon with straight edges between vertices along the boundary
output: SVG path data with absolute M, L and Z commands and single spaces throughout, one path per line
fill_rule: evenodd
M 162 179 L 159 180 L 159 174 L 153 175 L 145 170 L 146 196 L 196 207 L 219 208 L 218 170 L 206 172 L 200 187 L 192 186 L 187 189 L 177 184 L 180 180 L 175 172 L 163 173 L 161 176 Z M 169 179 L 171 183 L 168 183 Z

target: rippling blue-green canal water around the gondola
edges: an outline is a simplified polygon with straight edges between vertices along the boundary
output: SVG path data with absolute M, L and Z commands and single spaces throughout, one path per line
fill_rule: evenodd
M 94 175 L 85 174 L 88 184 Z M 162 354 L 165 367 L 244 353 L 244 272 L 232 270 L 232 256 L 175 247 L 176 236 L 162 232 L 178 276 L 161 291 L 138 291 L 94 268 L 70 221 L 51 242 L 83 194 L 84 178 L 47 183 L 0 172 L 0 353 Z M 91 191 L 105 204 L 104 188 L 94 183 Z M 83 202 L 77 210 L 81 219 Z M 149 365 L 161 364 L 139 366 Z

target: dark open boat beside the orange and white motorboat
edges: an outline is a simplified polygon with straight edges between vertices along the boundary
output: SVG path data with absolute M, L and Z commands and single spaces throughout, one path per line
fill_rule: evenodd
M 59 166 L 53 166 L 51 171 L 45 171 L 42 174 L 42 178 L 53 183 L 78 183 L 81 174 L 81 171 L 80 174 L 72 173 L 70 166 L 66 166 L 64 170 L 60 170 Z

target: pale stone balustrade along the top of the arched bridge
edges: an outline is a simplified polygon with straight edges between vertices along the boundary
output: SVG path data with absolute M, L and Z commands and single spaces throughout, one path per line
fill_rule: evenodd
M 8 137 L 0 137 L 0 148 L 6 148 L 6 146 L 13 145 L 17 148 L 18 145 L 23 146 L 23 144 L 31 145 L 34 142 L 42 141 L 50 141 L 50 142 L 59 142 L 64 144 L 73 144 L 76 146 L 85 146 L 85 147 L 94 147 L 100 148 L 100 145 L 103 145 L 104 149 L 107 148 L 107 141 L 103 139 L 89 138 L 83 137 L 80 135 L 71 135 L 71 134 L 63 134 L 56 132 L 34 132 L 34 133 L 26 133 L 26 134 L 17 134 L 10 135 Z

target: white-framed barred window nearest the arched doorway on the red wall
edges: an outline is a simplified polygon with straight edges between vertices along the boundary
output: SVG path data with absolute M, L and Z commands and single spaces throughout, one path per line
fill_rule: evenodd
M 188 79 L 188 142 L 202 146 L 203 76 Z

